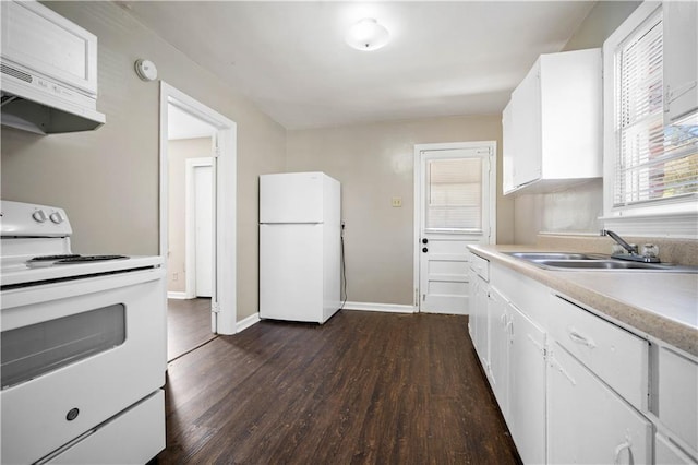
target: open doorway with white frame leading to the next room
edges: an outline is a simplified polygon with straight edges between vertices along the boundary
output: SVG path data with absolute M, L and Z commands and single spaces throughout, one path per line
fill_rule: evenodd
M 159 238 L 177 338 L 168 360 L 237 332 L 236 176 L 236 123 L 161 82 Z

